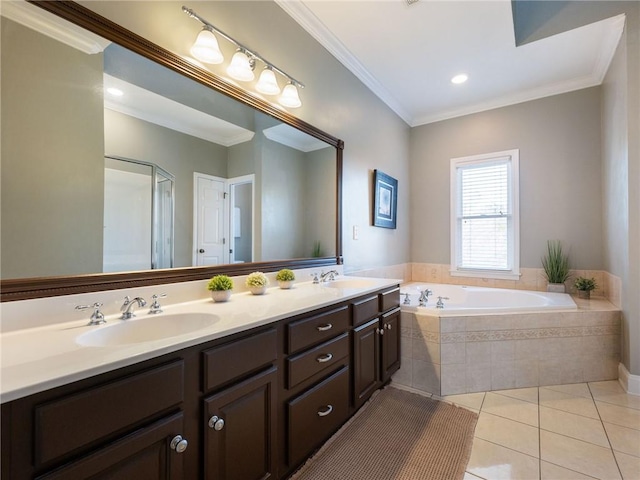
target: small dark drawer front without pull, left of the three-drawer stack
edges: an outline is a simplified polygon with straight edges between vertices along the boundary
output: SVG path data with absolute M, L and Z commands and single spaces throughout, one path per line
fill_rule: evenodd
M 273 363 L 277 357 L 276 329 L 202 352 L 205 392 Z

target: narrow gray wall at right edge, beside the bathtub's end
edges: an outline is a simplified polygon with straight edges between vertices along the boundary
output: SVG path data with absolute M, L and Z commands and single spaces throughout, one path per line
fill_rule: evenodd
M 622 360 L 640 375 L 640 5 L 603 84 L 604 267 L 622 283 Z

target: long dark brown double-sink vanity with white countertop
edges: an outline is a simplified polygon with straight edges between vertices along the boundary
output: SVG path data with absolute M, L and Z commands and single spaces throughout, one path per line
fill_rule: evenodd
M 218 316 L 200 336 L 174 345 L 58 350 L 51 376 L 71 368 L 63 364 L 74 355 L 97 357 L 101 369 L 111 359 L 112 369 L 93 375 L 79 362 L 69 383 L 25 384 L 22 392 L 38 390 L 28 395 L 3 390 L 11 399 L 2 405 L 2 477 L 286 478 L 400 366 L 398 282 L 366 282 L 237 294 L 228 304 L 179 306 L 179 314 L 169 307 L 157 318 Z M 122 320 L 64 325 L 60 335 L 77 339 L 116 322 Z M 3 372 L 23 369 L 28 376 L 45 365 L 43 357 Z

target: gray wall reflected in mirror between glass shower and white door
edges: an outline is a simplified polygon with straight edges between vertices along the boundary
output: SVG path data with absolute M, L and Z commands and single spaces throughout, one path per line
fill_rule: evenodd
M 155 163 L 174 175 L 174 265 L 176 267 L 191 266 L 193 264 L 193 173 L 227 178 L 227 147 L 113 110 L 105 109 L 104 119 L 106 155 Z

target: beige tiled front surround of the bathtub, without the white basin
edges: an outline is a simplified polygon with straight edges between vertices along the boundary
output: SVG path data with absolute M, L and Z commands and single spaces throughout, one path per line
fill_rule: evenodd
M 576 312 L 402 312 L 402 367 L 394 382 L 455 395 L 617 379 L 620 311 L 605 300 L 588 303 Z

